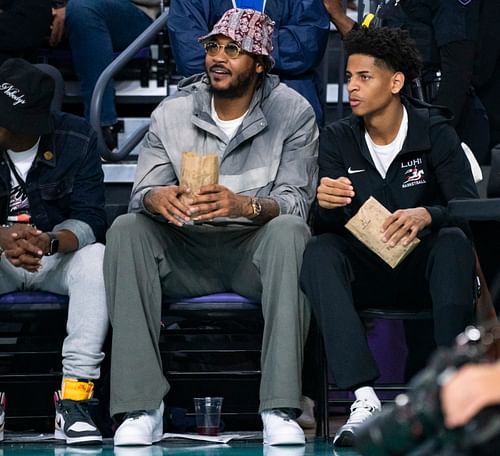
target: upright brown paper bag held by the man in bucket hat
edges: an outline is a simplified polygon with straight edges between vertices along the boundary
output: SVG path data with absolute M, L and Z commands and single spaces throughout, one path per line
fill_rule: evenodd
M 181 195 L 181 201 L 189 204 L 189 199 L 201 186 L 219 182 L 219 157 L 215 154 L 200 155 L 183 152 L 181 160 L 180 184 L 189 188 L 190 193 Z

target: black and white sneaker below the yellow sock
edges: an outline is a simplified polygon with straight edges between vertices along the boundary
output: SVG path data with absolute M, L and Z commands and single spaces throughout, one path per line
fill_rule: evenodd
M 65 440 L 68 445 L 95 445 L 102 442 L 102 435 L 90 417 L 88 406 L 97 399 L 73 401 L 61 399 L 60 391 L 54 393 L 56 422 L 54 438 Z

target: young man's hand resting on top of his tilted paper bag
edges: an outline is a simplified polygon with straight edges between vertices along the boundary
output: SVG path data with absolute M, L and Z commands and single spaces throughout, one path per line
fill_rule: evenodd
M 423 207 L 399 209 L 385 219 L 381 228 L 382 240 L 390 247 L 399 242 L 407 246 L 431 222 L 431 214 Z

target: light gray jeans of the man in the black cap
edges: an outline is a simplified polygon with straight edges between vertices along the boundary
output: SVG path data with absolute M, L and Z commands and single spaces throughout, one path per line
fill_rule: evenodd
M 108 331 L 102 261 L 104 245 L 87 245 L 76 252 L 42 258 L 38 272 L 15 267 L 2 257 L 0 293 L 43 290 L 69 295 L 67 336 L 64 339 L 63 376 L 97 379 Z

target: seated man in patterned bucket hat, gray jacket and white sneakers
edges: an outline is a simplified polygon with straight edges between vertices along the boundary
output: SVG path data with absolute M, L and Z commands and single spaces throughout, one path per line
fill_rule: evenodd
M 158 349 L 162 297 L 223 291 L 262 303 L 264 443 L 305 443 L 290 418 L 300 410 L 310 317 L 298 274 L 310 237 L 318 130 L 307 101 L 268 74 L 272 33 L 265 14 L 227 11 L 200 38 L 205 74 L 181 81 L 153 112 L 131 213 L 108 231 L 104 260 L 111 414 L 125 415 L 115 445 L 162 437 L 169 389 Z M 181 185 L 185 151 L 216 154 L 219 183 Z

